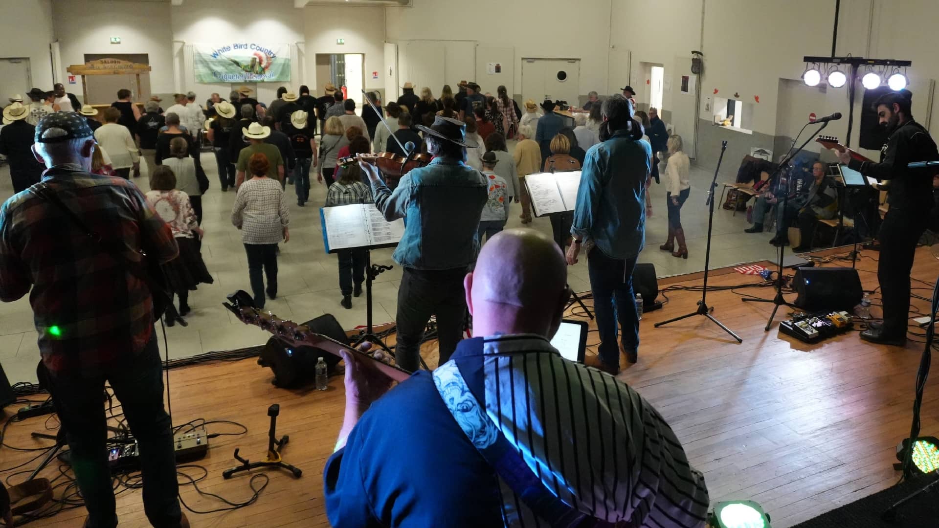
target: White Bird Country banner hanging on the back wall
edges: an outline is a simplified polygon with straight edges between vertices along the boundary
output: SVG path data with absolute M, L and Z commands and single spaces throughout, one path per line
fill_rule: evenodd
M 196 83 L 263 83 L 290 80 L 287 44 L 225 42 L 193 44 Z

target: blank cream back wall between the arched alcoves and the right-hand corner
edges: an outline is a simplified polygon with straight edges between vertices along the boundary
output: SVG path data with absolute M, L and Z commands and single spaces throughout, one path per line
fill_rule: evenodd
M 579 93 L 586 95 L 591 90 L 604 91 L 608 84 L 612 3 L 613 0 L 474 0 L 463 4 L 413 0 L 411 8 L 386 8 L 387 39 L 475 40 L 485 46 L 514 47 L 516 94 L 521 92 L 522 58 L 579 58 Z M 446 84 L 455 88 L 460 80 L 446 79 Z M 484 92 L 495 93 L 496 85 L 486 85 L 485 76 L 478 71 L 475 81 Z M 431 87 L 439 92 L 439 86 Z

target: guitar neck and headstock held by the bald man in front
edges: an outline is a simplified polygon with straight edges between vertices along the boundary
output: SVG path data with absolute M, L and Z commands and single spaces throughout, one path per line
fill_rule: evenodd
M 254 306 L 254 301 L 247 292 L 236 291 L 228 296 L 228 303 L 222 303 L 235 317 L 245 324 L 253 324 L 294 347 L 313 347 L 329 352 L 345 359 L 346 355 L 354 357 L 359 365 L 372 369 L 379 374 L 387 376 L 394 381 L 404 381 L 410 378 L 411 373 L 395 365 L 384 363 L 368 352 L 354 349 L 327 337 L 316 334 L 309 328 L 293 321 L 278 318 L 270 312 L 263 312 Z

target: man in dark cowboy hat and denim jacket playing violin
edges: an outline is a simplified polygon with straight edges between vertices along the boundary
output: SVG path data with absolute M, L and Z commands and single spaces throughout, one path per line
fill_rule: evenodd
M 476 261 L 476 230 L 488 197 L 483 173 L 469 167 L 460 121 L 438 116 L 426 132 L 427 149 L 434 160 L 414 169 L 392 192 L 378 169 L 360 163 L 372 184 L 375 206 L 389 222 L 405 219 L 405 234 L 394 250 L 394 261 L 404 268 L 398 287 L 397 346 L 395 361 L 417 370 L 423 329 L 437 315 L 439 365 L 450 359 L 463 333 L 466 295 L 463 277 Z

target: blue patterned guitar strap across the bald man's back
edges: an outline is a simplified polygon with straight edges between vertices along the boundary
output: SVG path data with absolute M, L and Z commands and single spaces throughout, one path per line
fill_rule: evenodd
M 460 356 L 433 372 L 434 384 L 456 424 L 485 461 L 515 491 L 539 519 L 552 528 L 612 528 L 617 524 L 597 520 L 564 503 L 519 454 L 515 445 L 485 412 L 483 338 L 465 340 L 478 353 Z M 467 346 L 463 345 L 463 346 Z M 623 524 L 620 524 L 621 526 Z

